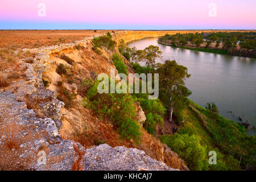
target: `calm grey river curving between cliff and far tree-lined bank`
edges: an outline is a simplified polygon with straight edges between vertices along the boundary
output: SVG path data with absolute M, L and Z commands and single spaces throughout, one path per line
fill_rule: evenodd
M 163 46 L 158 44 L 157 38 L 139 40 L 128 46 L 144 49 L 150 45 L 158 46 L 163 52 L 163 58 L 156 62 L 176 60 L 188 68 L 191 77 L 185 84 L 192 91 L 189 99 L 203 107 L 207 102 L 214 102 L 224 117 L 239 122 L 239 116 L 256 126 L 255 58 Z M 250 131 L 248 134 L 255 135 Z

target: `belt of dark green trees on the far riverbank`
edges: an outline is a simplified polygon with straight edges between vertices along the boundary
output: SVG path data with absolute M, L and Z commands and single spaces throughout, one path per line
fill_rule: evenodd
M 205 39 L 205 41 L 204 41 Z M 158 39 L 160 44 L 174 46 L 196 51 L 221 53 L 236 56 L 256 57 L 256 33 L 255 32 L 213 32 L 201 34 L 166 34 Z M 202 43 L 205 47 L 201 47 Z M 191 43 L 192 46 L 187 46 Z M 209 48 L 212 43 L 215 46 Z M 222 45 L 220 48 L 220 44 Z M 240 49 L 238 49 L 238 44 Z M 195 47 L 193 47 L 195 46 Z

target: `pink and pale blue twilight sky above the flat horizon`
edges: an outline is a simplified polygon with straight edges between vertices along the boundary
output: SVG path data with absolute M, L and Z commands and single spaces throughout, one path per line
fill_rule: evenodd
M 0 29 L 256 29 L 256 1 L 1 0 Z

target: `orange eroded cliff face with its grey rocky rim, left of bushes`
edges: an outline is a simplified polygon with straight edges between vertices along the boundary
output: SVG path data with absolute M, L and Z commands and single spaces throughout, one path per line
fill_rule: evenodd
M 122 38 L 122 33 L 116 32 L 115 35 L 119 35 L 117 39 Z M 129 38 L 134 39 L 137 36 Z M 36 170 L 188 169 L 175 152 L 146 131 L 143 130 L 139 144 L 121 140 L 111 122 L 100 120 L 82 106 L 81 80 L 98 73 L 109 73 L 114 67 L 106 57 L 108 54 L 97 55 L 93 51 L 91 40 L 23 50 L 35 55 L 19 61 L 19 67 L 25 70 L 24 76 L 0 90 L 0 167 Z M 77 48 L 78 45 L 82 48 Z M 63 53 L 74 62 L 70 64 L 61 59 Z M 27 59 L 32 59 L 32 63 L 26 63 Z M 68 69 L 69 76 L 56 73 L 60 63 Z M 48 81 L 47 89 L 43 80 Z M 57 99 L 63 90 L 72 95 L 70 106 L 65 108 L 64 102 Z M 137 106 L 137 111 L 143 123 L 145 118 L 140 106 Z

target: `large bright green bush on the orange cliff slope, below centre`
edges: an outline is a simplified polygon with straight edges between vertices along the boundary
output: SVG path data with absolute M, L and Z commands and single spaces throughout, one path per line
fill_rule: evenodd
M 130 94 L 102 93 L 97 90 L 98 81 L 87 92 L 88 105 L 98 117 L 108 118 L 118 127 L 121 138 L 138 141 L 141 132 L 135 120 L 136 110 Z

